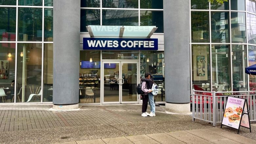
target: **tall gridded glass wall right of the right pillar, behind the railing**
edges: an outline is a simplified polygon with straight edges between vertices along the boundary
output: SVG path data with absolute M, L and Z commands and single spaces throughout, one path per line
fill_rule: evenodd
M 255 61 L 255 46 L 247 44 L 255 44 L 255 10 L 255 2 L 250 0 L 228 0 L 223 4 L 191 0 L 193 89 L 245 91 L 249 84 L 250 90 L 255 90 L 254 77 L 249 76 L 248 82 L 244 72 Z

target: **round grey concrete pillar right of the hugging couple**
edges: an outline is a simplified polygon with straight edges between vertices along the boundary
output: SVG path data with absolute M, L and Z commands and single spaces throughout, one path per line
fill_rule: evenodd
M 189 0 L 163 0 L 165 108 L 190 112 Z

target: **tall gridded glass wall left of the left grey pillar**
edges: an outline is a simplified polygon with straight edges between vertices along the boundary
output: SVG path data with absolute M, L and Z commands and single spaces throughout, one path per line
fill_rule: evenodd
M 53 0 L 4 0 L 0 5 L 0 102 L 51 102 Z

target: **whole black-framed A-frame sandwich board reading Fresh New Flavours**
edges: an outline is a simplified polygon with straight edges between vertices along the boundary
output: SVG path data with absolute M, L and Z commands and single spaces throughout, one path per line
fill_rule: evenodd
M 227 97 L 227 103 L 222 118 L 222 125 L 237 129 L 239 133 L 240 126 L 250 129 L 249 111 L 246 99 L 237 97 Z

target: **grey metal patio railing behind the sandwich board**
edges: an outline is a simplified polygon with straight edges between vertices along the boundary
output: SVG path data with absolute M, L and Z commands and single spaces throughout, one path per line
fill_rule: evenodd
M 212 123 L 213 126 L 222 122 L 227 96 L 246 99 L 250 121 L 256 121 L 256 91 L 206 92 L 193 90 L 191 95 L 192 121 L 200 119 Z

